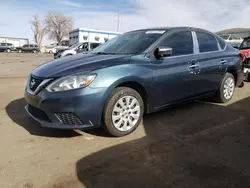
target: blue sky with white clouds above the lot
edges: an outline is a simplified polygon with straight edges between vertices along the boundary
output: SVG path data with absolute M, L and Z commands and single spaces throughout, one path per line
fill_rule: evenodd
M 216 32 L 250 28 L 250 0 L 0 0 L 0 36 L 28 38 L 32 15 L 71 16 L 74 28 L 119 32 L 149 27 L 191 26 Z M 52 42 L 47 37 L 44 44 Z

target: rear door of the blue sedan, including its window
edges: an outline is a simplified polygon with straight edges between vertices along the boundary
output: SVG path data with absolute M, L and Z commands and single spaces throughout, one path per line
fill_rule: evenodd
M 227 62 L 223 50 L 213 34 L 196 31 L 198 42 L 197 61 L 200 71 L 197 75 L 197 87 L 200 94 L 214 92 L 220 86 L 224 75 L 222 65 Z M 225 47 L 225 46 L 224 46 Z

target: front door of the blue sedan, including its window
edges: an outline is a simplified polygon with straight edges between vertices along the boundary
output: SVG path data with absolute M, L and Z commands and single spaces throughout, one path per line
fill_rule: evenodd
M 174 33 L 163 39 L 159 46 L 170 47 L 173 53 L 169 57 L 152 60 L 154 106 L 165 106 L 195 96 L 199 91 L 196 80 L 200 65 L 194 54 L 191 31 Z

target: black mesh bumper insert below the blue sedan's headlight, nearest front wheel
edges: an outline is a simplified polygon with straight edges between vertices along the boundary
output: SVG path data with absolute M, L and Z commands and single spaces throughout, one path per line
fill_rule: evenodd
M 56 117 L 65 125 L 82 125 L 82 121 L 72 112 L 55 113 Z

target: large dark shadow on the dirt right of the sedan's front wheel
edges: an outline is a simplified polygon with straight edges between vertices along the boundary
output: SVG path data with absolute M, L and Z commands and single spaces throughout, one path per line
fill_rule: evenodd
M 147 115 L 145 137 L 83 157 L 78 180 L 87 188 L 250 187 L 249 106 L 246 98 Z

